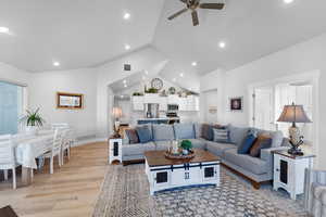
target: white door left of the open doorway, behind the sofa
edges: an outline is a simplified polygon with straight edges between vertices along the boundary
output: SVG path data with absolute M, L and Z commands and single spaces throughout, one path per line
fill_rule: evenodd
M 260 88 L 253 94 L 253 126 L 264 130 L 276 130 L 274 120 L 274 89 Z

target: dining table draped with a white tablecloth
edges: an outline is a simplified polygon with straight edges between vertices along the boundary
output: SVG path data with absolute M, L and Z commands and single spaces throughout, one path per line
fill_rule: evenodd
M 22 165 L 22 184 L 33 182 L 33 169 L 37 169 L 36 158 L 51 151 L 53 130 L 40 130 L 36 135 L 17 133 L 12 137 L 16 164 Z

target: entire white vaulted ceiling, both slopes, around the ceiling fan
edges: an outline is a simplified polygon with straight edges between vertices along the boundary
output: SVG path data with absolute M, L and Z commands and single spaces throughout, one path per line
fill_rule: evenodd
M 167 21 L 185 8 L 179 0 L 0 0 L 0 26 L 10 28 L 0 34 L 0 61 L 29 72 L 79 68 L 151 44 L 170 60 L 160 75 L 191 87 L 213 69 L 235 68 L 326 31 L 325 0 L 201 1 L 226 7 L 199 9 L 193 27 L 189 13 Z

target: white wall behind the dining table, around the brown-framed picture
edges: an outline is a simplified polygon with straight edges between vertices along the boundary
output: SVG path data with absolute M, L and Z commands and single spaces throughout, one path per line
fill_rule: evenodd
M 29 88 L 30 107 L 40 107 L 47 124 L 68 123 L 78 137 L 96 135 L 97 122 L 97 71 L 45 72 L 32 75 Z M 58 110 L 57 92 L 83 93 L 84 110 Z

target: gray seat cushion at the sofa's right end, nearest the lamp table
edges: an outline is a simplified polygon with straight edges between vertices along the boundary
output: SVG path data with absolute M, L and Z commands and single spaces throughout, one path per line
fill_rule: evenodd
M 255 175 L 266 174 L 268 171 L 267 162 L 248 154 L 238 154 L 237 149 L 226 150 L 224 152 L 224 159 Z

